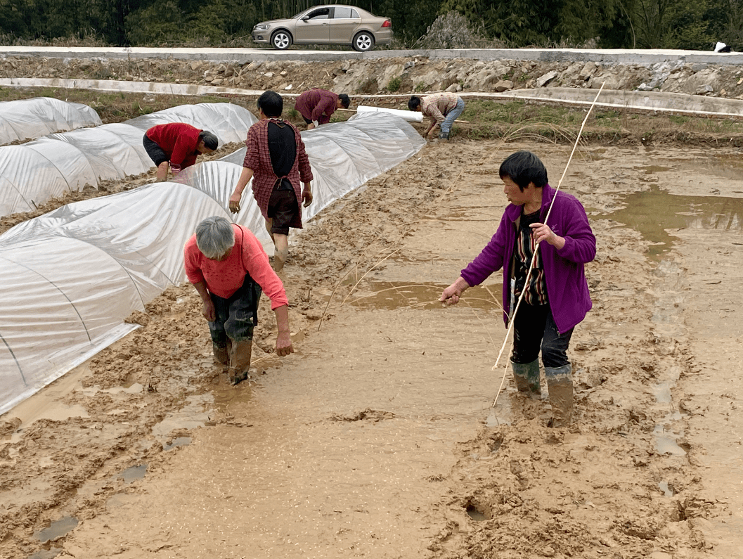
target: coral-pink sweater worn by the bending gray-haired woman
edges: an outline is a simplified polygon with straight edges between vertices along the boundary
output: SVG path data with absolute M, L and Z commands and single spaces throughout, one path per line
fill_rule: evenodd
M 186 242 L 184 248 L 186 277 L 189 282 L 204 282 L 210 293 L 230 298 L 245 280 L 245 274 L 261 286 L 271 300 L 271 309 L 288 305 L 284 284 L 268 262 L 263 246 L 250 230 L 233 224 L 235 245 L 227 259 L 210 260 L 196 246 L 196 236 Z

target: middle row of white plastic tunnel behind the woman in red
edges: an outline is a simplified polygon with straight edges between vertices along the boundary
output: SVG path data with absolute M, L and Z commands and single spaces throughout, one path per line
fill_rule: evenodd
M 86 184 L 138 175 L 153 167 L 142 138 L 155 124 L 185 122 L 213 132 L 220 143 L 247 137 L 256 117 L 230 103 L 166 109 L 124 123 L 51 134 L 18 146 L 0 147 L 0 216 L 36 209 Z M 208 127 L 207 127 L 208 126 Z

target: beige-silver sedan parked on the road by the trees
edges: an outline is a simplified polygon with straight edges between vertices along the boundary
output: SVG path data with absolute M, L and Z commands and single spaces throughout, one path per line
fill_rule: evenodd
M 355 6 L 315 6 L 290 19 L 272 19 L 253 28 L 253 42 L 283 51 L 295 45 L 351 45 L 371 51 L 392 41 L 392 22 Z

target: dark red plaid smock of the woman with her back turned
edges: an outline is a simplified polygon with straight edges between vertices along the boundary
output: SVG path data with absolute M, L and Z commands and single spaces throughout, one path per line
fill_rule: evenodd
M 256 198 L 264 219 L 268 219 L 268 201 L 273 192 L 273 187 L 279 178 L 284 178 L 277 177 L 271 165 L 271 155 L 268 151 L 268 123 L 271 120 L 270 118 L 259 120 L 253 126 L 250 126 L 247 131 L 247 140 L 245 140 L 247 152 L 245 152 L 245 159 L 242 162 L 243 167 L 253 169 L 253 198 Z M 305 143 L 299 136 L 299 130 L 292 123 L 286 124 L 292 127 L 294 138 L 296 138 L 296 158 L 286 178 L 294 187 L 296 203 L 299 204 L 296 219 L 289 224 L 289 227 L 302 229 L 302 190 L 299 180 L 301 178 L 303 183 L 310 182 L 312 180 L 312 170 L 310 169 L 310 160 L 305 152 Z

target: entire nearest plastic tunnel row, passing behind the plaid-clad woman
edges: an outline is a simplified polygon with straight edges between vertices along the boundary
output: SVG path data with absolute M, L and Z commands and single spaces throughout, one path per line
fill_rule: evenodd
M 389 115 L 303 137 L 316 197 L 305 217 L 424 145 Z M 136 327 L 123 322 L 132 311 L 184 282 L 183 247 L 202 219 L 234 218 L 267 237 L 250 190 L 241 213 L 227 210 L 241 170 L 226 161 L 196 164 L 178 177 L 189 184 L 147 184 L 69 204 L 0 236 L 0 413 L 126 335 Z

